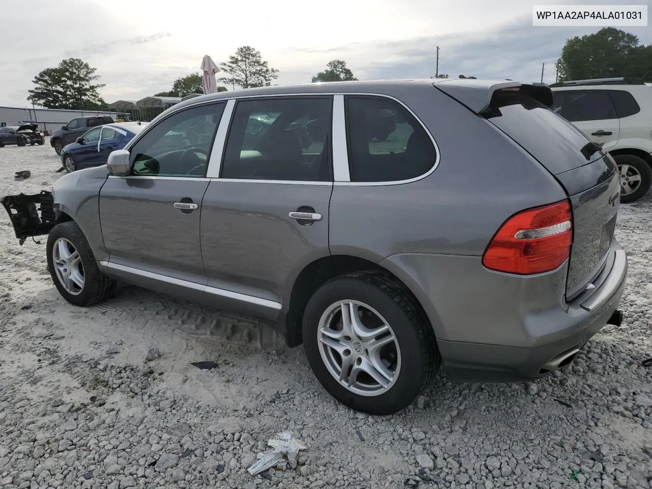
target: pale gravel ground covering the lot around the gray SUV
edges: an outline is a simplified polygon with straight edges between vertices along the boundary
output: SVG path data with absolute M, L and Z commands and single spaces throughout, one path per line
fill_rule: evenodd
M 0 195 L 49 189 L 57 168 L 49 141 L 0 149 Z M 65 303 L 44 245 L 19 246 L 4 216 L 0 488 L 652 488 L 652 196 L 621 207 L 617 237 L 625 322 L 568 370 L 513 385 L 440 374 L 411 408 L 370 417 L 258 321 L 129 286 Z M 296 469 L 249 475 L 284 430 L 308 447 Z

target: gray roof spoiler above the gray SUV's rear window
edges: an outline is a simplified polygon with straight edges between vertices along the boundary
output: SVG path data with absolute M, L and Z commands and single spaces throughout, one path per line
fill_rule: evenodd
M 546 83 L 520 83 L 512 80 L 441 80 L 433 83 L 436 89 L 454 98 L 474 113 L 488 110 L 492 97 L 499 91 L 518 91 L 531 96 L 546 107 L 552 106 L 552 90 Z

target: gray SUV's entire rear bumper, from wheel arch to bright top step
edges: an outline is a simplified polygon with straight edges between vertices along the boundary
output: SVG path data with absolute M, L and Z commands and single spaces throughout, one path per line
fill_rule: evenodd
M 627 255 L 614 239 L 595 289 L 565 298 L 568 265 L 533 276 L 490 271 L 479 256 L 399 254 L 381 262 L 430 319 L 449 378 L 516 381 L 580 349 L 611 318 L 625 289 Z

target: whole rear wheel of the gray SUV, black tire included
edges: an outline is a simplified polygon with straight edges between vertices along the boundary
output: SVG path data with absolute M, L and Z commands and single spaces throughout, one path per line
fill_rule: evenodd
M 342 370 L 342 355 L 351 358 L 351 366 L 370 365 L 368 360 L 374 357 L 368 353 L 370 344 L 361 344 L 355 333 L 349 338 L 341 329 L 325 327 L 329 318 L 332 318 L 331 325 L 342 324 L 342 313 L 333 312 L 333 307 L 341 301 L 357 303 L 354 308 L 363 310 L 362 322 L 367 328 L 373 329 L 370 319 L 376 314 L 381 316 L 376 319 L 389 325 L 387 336 L 380 338 L 394 336 L 380 350 L 389 359 L 389 366 L 384 364 L 385 371 L 393 374 L 388 385 L 363 374 L 349 388 L 336 378 Z M 320 333 L 324 329 L 330 334 Z M 333 333 L 342 334 L 342 343 L 335 340 L 338 348 L 342 348 L 341 354 L 334 354 L 333 349 L 319 340 L 321 336 L 322 340 L 331 341 Z M 374 271 L 335 277 L 310 297 L 303 316 L 303 343 L 310 367 L 321 385 L 342 404 L 372 415 L 393 414 L 408 407 L 432 383 L 441 362 L 432 327 L 417 301 L 405 286 Z M 344 377 L 348 378 L 353 370 L 346 369 L 346 372 Z M 380 375 L 379 370 L 375 372 Z M 387 377 L 383 379 L 388 381 Z

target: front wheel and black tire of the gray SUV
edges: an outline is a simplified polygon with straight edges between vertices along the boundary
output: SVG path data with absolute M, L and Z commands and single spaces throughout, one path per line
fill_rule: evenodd
M 65 255 L 60 252 L 60 243 L 66 246 L 68 253 L 78 252 L 81 267 L 74 264 L 74 259 L 68 263 L 63 262 L 62 258 Z M 55 247 L 57 250 L 55 250 Z M 48 271 L 50 271 L 54 285 L 61 296 L 70 304 L 83 307 L 92 306 L 108 299 L 115 290 L 115 280 L 100 272 L 91 245 L 75 222 L 61 222 L 52 228 L 48 235 L 46 254 Z M 55 259 L 57 261 L 56 267 Z M 66 268 L 67 266 L 68 268 Z M 82 276 L 83 283 L 81 286 L 79 282 L 74 280 L 72 282 L 68 281 L 68 284 L 72 283 L 72 287 L 65 286 L 64 278 L 60 278 L 64 271 L 70 271 L 71 266 L 76 267 L 76 271 Z

